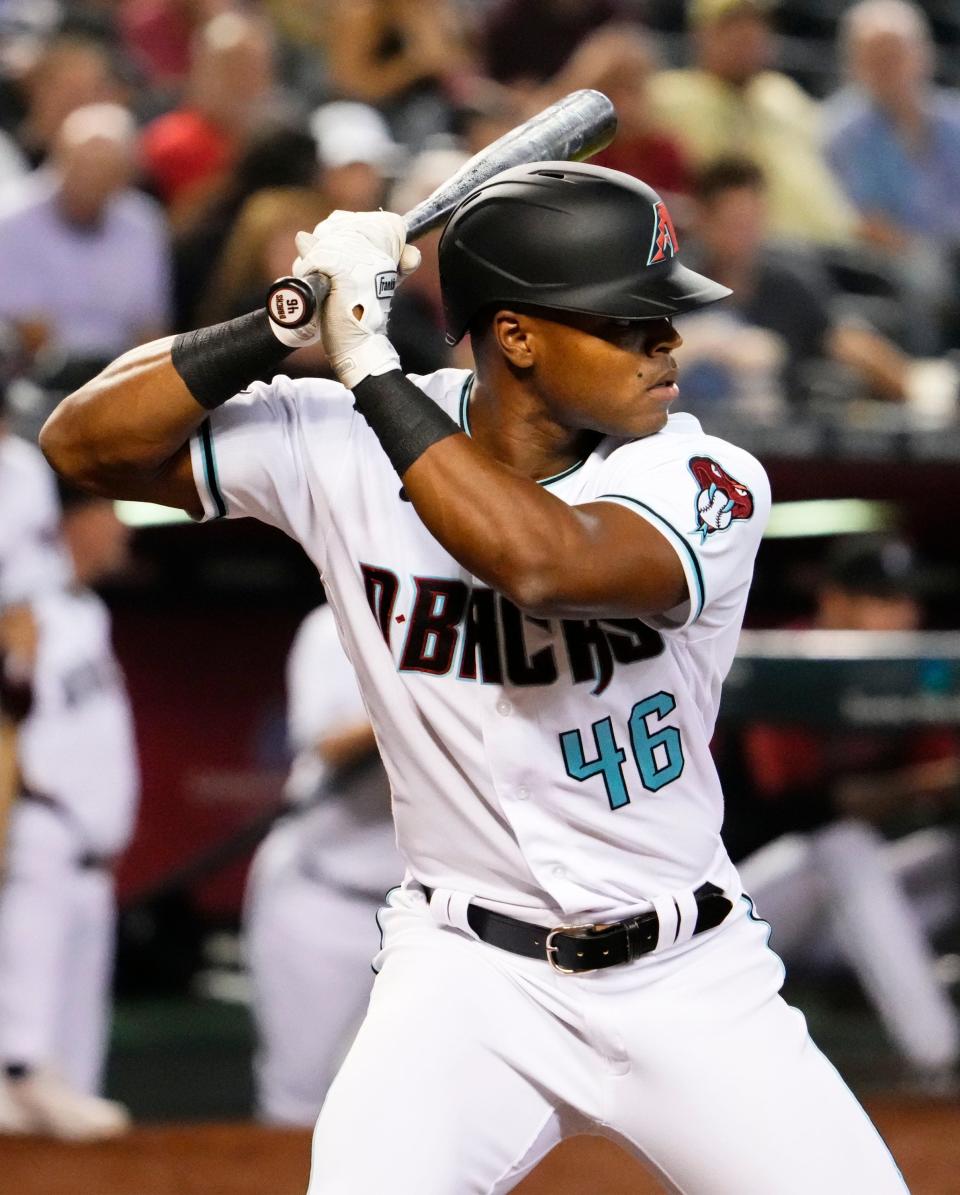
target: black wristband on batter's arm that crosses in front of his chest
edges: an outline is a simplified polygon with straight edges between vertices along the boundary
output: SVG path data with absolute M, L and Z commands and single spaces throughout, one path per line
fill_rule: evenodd
M 399 369 L 365 378 L 354 387 L 354 404 L 377 433 L 400 477 L 417 458 L 460 428 Z

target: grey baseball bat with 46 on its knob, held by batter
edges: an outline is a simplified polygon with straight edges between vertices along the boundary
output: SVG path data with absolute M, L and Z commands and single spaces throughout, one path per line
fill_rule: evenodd
M 530 161 L 583 161 L 613 140 L 617 112 L 600 91 L 582 88 L 518 124 L 481 149 L 403 217 L 406 240 L 442 223 L 461 200 L 510 166 Z M 277 278 L 267 294 L 274 323 L 296 329 L 308 324 L 330 289 L 322 274 Z

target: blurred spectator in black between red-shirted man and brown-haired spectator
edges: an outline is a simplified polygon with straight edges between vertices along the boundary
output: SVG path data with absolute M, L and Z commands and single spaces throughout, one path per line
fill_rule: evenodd
M 264 188 L 312 188 L 319 179 L 317 142 L 296 125 L 267 125 L 252 135 L 216 192 L 173 241 L 173 326 L 203 323 L 200 305 L 210 271 L 246 200 Z M 283 271 L 287 272 L 286 270 Z

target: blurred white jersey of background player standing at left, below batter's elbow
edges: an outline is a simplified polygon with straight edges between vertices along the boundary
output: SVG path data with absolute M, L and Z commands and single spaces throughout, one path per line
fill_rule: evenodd
M 82 850 L 111 856 L 130 836 L 140 777 L 110 615 L 90 590 L 32 603 L 39 629 L 33 706 L 20 728 L 24 783 L 78 826 Z

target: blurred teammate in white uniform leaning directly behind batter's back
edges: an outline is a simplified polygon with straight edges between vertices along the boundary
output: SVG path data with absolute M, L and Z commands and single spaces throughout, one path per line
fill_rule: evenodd
M 244 920 L 258 1111 L 312 1127 L 366 1011 L 377 909 L 404 868 L 390 785 L 329 606 L 296 632 L 287 700 L 296 756 L 286 795 L 296 811 L 257 851 Z

